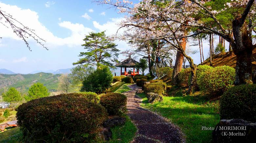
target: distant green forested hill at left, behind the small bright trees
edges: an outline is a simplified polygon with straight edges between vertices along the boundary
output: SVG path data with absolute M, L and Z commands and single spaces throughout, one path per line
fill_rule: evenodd
M 58 77 L 61 74 L 39 72 L 35 74 L 0 74 L 0 88 L 15 87 L 20 91 L 28 91 L 36 82 L 42 83 L 49 91 L 56 91 Z

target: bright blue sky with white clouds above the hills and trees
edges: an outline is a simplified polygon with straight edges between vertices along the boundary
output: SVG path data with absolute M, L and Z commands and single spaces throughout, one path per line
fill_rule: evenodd
M 138 3 L 139 0 L 133 0 Z M 80 52 L 83 38 L 89 32 L 106 30 L 110 36 L 119 28 L 124 14 L 115 8 L 97 5 L 91 0 L 0 0 L 1 10 L 11 14 L 22 24 L 35 30 L 35 33 L 46 40 L 49 50 L 42 48 L 34 40 L 28 42 L 29 51 L 23 40 L 11 30 L 0 24 L 0 69 L 8 69 L 16 73 L 47 71 L 74 67 Z M 215 42 L 217 42 L 217 37 Z M 121 51 L 130 49 L 125 41 L 115 41 Z M 209 53 L 208 41 L 204 41 L 204 57 Z M 228 42 L 226 42 L 228 47 Z M 199 50 L 198 46 L 191 46 Z M 196 64 L 200 63 L 199 52 L 192 55 Z M 121 55 L 119 60 L 123 59 Z

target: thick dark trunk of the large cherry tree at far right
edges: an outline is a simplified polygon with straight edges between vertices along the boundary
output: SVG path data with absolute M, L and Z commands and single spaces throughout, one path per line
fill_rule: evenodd
M 232 22 L 235 43 L 231 43 L 234 54 L 236 55 L 236 76 L 235 85 L 252 84 L 252 40 L 248 36 L 247 25 L 239 25 L 239 20 Z

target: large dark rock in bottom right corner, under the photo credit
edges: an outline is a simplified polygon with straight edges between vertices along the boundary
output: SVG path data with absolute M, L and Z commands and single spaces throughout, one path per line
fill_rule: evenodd
M 212 137 L 214 143 L 252 143 L 256 140 L 256 123 L 243 119 L 222 119 L 213 130 Z

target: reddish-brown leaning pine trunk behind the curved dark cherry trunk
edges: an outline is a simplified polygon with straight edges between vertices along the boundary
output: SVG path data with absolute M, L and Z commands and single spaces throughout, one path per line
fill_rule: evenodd
M 187 44 L 186 39 L 182 38 L 181 47 L 184 51 L 186 49 L 186 44 Z M 172 73 L 172 82 L 174 84 L 177 83 L 176 78 L 177 78 L 178 73 L 182 69 L 183 59 L 184 59 L 184 56 L 182 55 L 182 53 L 180 51 L 177 51 L 176 61 L 175 61 L 175 65 L 174 65 L 174 69 L 173 69 L 173 73 Z

